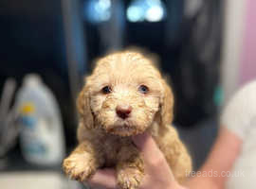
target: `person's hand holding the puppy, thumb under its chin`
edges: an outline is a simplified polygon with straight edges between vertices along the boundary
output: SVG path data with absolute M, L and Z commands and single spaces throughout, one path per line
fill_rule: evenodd
M 164 155 L 148 133 L 133 137 L 133 142 L 143 155 L 145 176 L 138 189 L 184 189 L 180 186 L 166 162 Z M 117 189 L 115 169 L 100 169 L 88 181 L 95 189 Z

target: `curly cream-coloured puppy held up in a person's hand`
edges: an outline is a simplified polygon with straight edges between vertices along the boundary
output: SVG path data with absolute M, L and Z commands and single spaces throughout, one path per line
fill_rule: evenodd
M 122 51 L 98 60 L 77 101 L 79 146 L 64 160 L 64 172 L 88 180 L 103 166 L 115 167 L 119 187 L 136 189 L 144 176 L 142 155 L 131 137 L 148 130 L 180 183 L 192 161 L 173 121 L 174 96 L 154 63 Z

